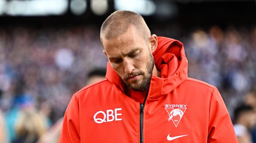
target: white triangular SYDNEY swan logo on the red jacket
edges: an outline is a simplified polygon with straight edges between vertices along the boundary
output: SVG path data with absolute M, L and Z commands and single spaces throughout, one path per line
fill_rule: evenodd
M 186 107 L 187 105 L 184 105 L 184 104 L 166 104 L 165 105 L 165 110 L 169 114 L 168 121 L 172 120 L 175 127 L 178 126 L 179 121 L 181 120 L 183 114 L 187 109 Z

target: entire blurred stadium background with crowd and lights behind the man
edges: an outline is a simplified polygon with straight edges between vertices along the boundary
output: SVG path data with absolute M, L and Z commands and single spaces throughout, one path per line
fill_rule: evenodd
M 0 143 L 56 143 L 71 96 L 104 78 L 99 31 L 116 10 L 184 44 L 240 143 L 256 143 L 255 0 L 0 0 Z M 93 78 L 93 80 L 91 79 Z

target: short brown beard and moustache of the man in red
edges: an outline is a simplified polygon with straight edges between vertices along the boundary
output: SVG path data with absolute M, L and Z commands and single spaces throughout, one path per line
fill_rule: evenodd
M 154 57 L 152 54 L 149 53 L 149 62 L 146 65 L 146 73 L 142 71 L 131 72 L 127 76 L 124 76 L 123 78 L 121 78 L 124 85 L 133 91 L 145 91 L 149 87 L 154 65 L 155 65 Z M 133 81 L 132 83 L 128 83 L 126 81 L 128 77 L 136 76 L 136 75 L 141 75 L 142 81 L 136 80 L 136 81 Z

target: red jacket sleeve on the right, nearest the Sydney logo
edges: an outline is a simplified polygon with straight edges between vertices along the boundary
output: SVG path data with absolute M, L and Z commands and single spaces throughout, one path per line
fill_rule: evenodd
M 216 87 L 209 106 L 207 143 L 238 143 L 228 110 Z

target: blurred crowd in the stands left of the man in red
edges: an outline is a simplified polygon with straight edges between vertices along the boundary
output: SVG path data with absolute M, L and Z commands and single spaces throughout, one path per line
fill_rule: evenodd
M 28 134 L 20 133 L 19 124 L 42 136 L 57 122 L 71 96 L 86 85 L 88 72 L 106 67 L 102 51 L 99 31 L 90 26 L 1 27 L 0 109 L 8 140 L 18 143 Z M 29 136 L 24 143 L 34 142 L 35 134 Z

